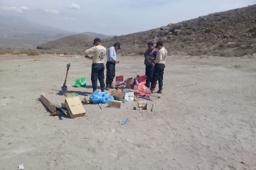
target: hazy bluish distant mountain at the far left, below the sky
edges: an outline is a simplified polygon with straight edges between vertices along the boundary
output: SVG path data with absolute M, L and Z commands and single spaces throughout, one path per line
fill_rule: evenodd
M 75 33 L 39 25 L 20 17 L 0 16 L 0 47 L 32 48 Z

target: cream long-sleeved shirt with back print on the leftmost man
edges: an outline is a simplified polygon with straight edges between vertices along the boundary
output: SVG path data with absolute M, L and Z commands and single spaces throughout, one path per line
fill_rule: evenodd
M 86 50 L 86 55 L 93 54 L 93 63 L 104 63 L 106 48 L 102 45 L 93 46 Z

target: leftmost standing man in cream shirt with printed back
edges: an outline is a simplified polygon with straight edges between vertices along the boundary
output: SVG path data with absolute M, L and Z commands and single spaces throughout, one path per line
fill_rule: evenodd
M 93 44 L 95 46 L 86 50 L 86 55 L 93 54 L 93 64 L 91 73 L 93 91 L 97 89 L 97 81 L 99 79 L 101 92 L 104 92 L 104 57 L 106 54 L 106 48 L 101 45 L 101 40 L 99 38 L 95 38 Z

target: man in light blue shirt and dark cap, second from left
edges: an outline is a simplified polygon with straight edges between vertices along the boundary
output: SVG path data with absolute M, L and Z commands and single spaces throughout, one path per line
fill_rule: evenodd
M 107 54 L 107 62 L 106 62 L 106 90 L 110 90 L 110 88 L 115 88 L 112 86 L 113 80 L 116 76 L 116 63 L 118 60 L 116 59 L 116 51 L 121 49 L 120 42 L 116 42 L 113 46 L 108 49 Z

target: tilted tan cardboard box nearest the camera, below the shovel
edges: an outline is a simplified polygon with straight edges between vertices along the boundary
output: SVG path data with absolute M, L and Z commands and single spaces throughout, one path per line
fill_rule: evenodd
M 84 107 L 78 96 L 67 98 L 65 100 L 65 104 L 69 112 L 70 118 L 83 116 L 84 114 L 86 114 L 86 110 L 84 110 Z

